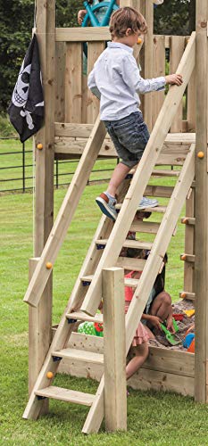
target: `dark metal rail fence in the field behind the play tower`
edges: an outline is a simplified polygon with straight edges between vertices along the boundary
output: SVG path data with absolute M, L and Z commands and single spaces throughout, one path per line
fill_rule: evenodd
M 55 188 L 69 186 L 78 162 L 78 160 L 54 161 Z M 95 169 L 92 170 L 87 185 L 108 181 L 110 179 L 109 173 L 115 165 L 116 160 L 101 159 L 96 161 Z M 33 182 L 34 166 L 31 141 L 21 144 L 18 138 L 1 137 L 0 194 L 25 193 L 33 189 Z

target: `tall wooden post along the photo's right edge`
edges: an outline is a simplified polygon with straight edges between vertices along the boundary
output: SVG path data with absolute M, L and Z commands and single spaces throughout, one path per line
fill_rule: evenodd
M 207 402 L 208 384 L 208 174 L 207 174 L 207 77 L 208 3 L 196 2 L 196 354 L 195 399 Z M 197 153 L 203 152 L 204 158 Z

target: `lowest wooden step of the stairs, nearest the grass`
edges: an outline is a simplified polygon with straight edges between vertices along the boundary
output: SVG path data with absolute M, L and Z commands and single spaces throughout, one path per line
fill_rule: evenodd
M 45 398 L 53 398 L 54 400 L 61 400 L 67 402 L 74 402 L 76 404 L 82 404 L 84 406 L 92 406 L 95 400 L 95 395 L 91 393 L 77 392 L 70 389 L 63 389 L 62 387 L 55 387 L 49 385 L 46 389 L 40 389 L 35 392 L 37 396 L 43 396 Z

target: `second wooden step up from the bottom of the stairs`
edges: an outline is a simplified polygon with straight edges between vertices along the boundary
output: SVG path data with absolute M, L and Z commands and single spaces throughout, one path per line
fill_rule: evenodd
M 71 360 L 79 360 L 82 362 L 91 362 L 93 364 L 104 364 L 104 355 L 102 355 L 101 353 L 94 353 L 93 351 L 84 351 L 69 348 L 59 351 L 53 351 L 52 356 L 56 358 L 67 358 Z

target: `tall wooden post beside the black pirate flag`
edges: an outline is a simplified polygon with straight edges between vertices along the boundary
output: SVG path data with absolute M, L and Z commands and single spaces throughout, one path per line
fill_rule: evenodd
M 36 145 L 36 214 L 34 255 L 39 257 L 46 244 L 54 217 L 54 78 L 55 78 L 55 1 L 37 0 L 37 40 L 45 97 L 45 126 L 37 133 Z M 34 329 L 35 321 L 35 329 Z M 50 277 L 41 305 L 29 310 L 29 359 L 36 358 L 37 367 L 29 366 L 29 391 L 37 379 L 52 335 L 52 278 Z M 44 339 L 44 342 L 40 340 Z M 47 406 L 47 405 L 46 405 Z M 45 406 L 45 412 L 46 412 Z

